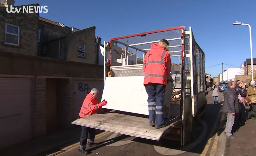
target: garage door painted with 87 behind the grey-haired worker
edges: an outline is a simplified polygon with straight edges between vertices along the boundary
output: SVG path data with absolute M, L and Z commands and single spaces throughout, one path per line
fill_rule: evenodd
M 103 80 L 75 80 L 74 84 L 75 88 L 75 109 L 74 109 L 74 120 L 77 119 L 79 116 L 79 111 L 82 106 L 82 102 L 86 95 L 91 91 L 92 88 L 98 88 L 100 91 L 100 95 L 98 100 L 101 101 L 102 92 L 104 88 L 104 81 Z

